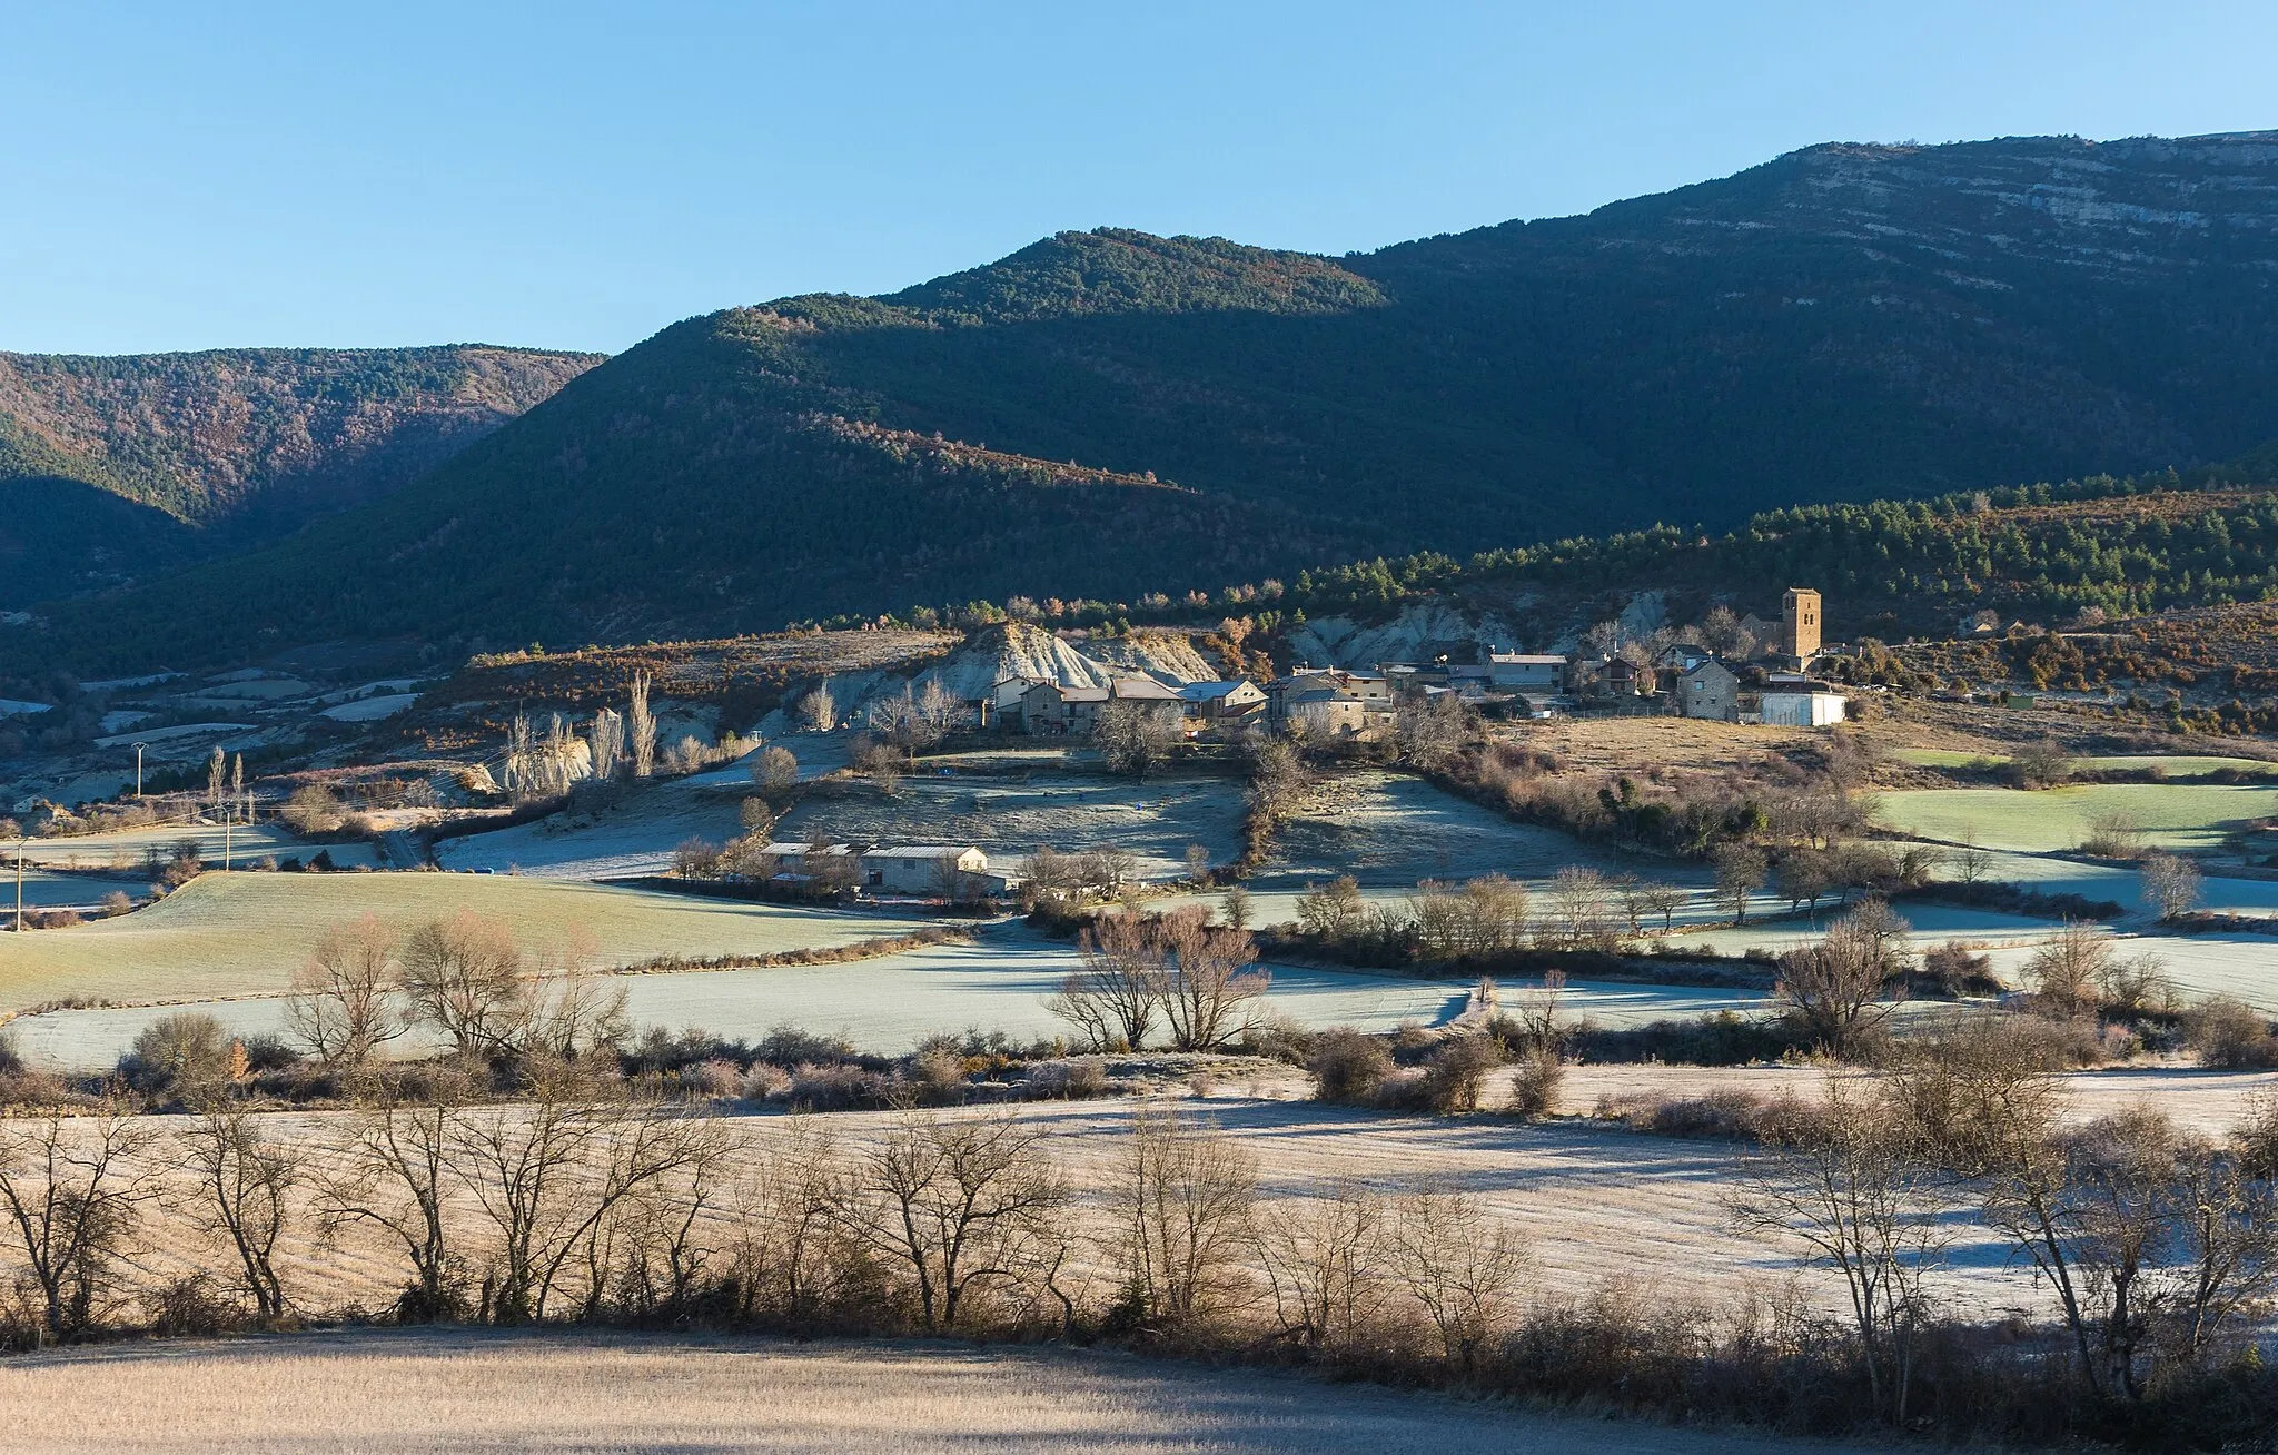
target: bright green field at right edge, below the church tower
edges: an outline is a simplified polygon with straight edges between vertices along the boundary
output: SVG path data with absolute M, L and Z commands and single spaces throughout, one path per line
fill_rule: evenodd
M 2278 813 L 2278 788 L 2228 783 L 2078 783 L 2071 788 L 1909 788 L 1882 795 L 1882 822 L 1950 845 L 2048 854 L 2119 813 L 2162 849 L 2212 849 L 2230 827 Z

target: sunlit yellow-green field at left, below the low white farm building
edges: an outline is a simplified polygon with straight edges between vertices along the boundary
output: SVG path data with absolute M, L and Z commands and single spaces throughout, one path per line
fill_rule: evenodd
M 118 920 L 0 936 L 0 1011 L 66 995 L 273 995 L 333 924 L 371 913 L 408 927 L 465 909 L 501 920 L 528 947 L 558 950 L 579 938 L 597 965 L 847 945 L 913 927 L 895 915 L 508 874 L 200 874 Z

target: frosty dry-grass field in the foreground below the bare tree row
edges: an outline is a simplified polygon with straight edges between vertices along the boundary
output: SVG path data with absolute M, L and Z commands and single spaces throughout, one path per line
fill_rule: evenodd
M 1754 1455 L 1791 1444 L 1114 1355 L 624 1334 L 358 1332 L 75 1350 L 0 1364 L 0 1455 Z

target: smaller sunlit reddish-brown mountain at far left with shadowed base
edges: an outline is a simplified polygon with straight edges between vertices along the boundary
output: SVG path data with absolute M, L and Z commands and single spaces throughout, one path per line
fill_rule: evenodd
M 490 346 L 0 353 L 0 606 L 362 505 L 599 362 Z

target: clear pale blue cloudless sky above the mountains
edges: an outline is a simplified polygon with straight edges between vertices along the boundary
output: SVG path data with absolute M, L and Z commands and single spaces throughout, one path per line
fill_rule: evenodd
M 2278 5 L 0 0 L 0 348 L 624 348 L 1062 228 L 1344 253 L 1813 141 L 2278 128 Z

